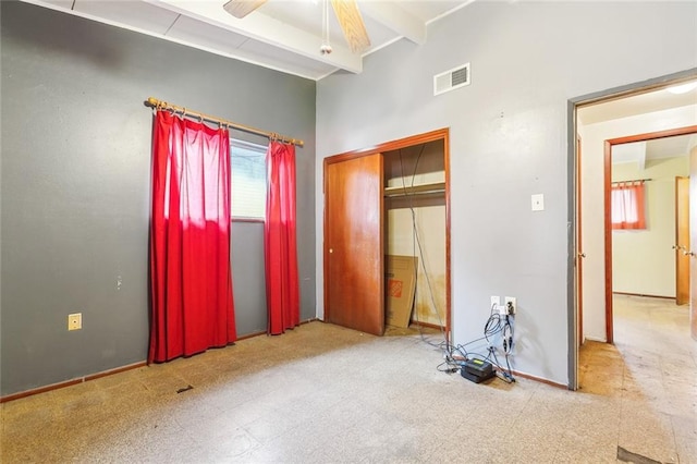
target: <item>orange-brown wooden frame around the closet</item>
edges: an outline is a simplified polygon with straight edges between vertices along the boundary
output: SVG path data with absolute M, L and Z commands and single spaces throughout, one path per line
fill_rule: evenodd
M 325 158 L 323 161 L 323 170 L 322 170 L 322 194 L 327 191 L 327 166 L 334 162 L 342 162 L 348 159 L 358 158 L 367 155 L 381 154 L 386 151 L 393 151 L 403 148 L 408 148 L 412 146 L 417 146 L 420 144 L 426 144 L 429 142 L 443 142 L 443 167 L 445 170 L 445 328 L 444 334 L 445 340 L 450 342 L 451 339 L 451 272 L 450 272 L 450 129 L 439 129 L 436 131 L 427 132 L 424 134 L 417 134 L 405 138 L 400 138 L 391 142 L 386 142 L 379 145 L 370 146 L 367 148 L 362 148 L 357 150 L 346 151 L 340 155 L 334 155 Z M 384 211 L 383 211 L 384 212 Z M 323 212 L 325 216 L 325 236 L 327 234 L 327 210 Z M 328 292 L 327 292 L 327 256 L 328 256 L 328 244 L 325 241 L 322 244 L 323 249 L 323 286 L 325 286 L 325 301 L 323 301 L 323 313 L 325 319 L 327 317 L 327 308 L 328 308 Z

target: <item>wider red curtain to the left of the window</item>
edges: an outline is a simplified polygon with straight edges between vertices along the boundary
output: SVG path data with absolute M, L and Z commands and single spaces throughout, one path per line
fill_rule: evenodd
M 148 363 L 235 341 L 227 129 L 157 111 L 151 215 Z

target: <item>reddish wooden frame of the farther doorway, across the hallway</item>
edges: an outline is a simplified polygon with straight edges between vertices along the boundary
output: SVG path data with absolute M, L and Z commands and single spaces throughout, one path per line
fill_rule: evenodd
M 606 338 L 608 343 L 614 342 L 613 307 L 612 307 L 612 206 L 610 202 L 612 183 L 612 147 L 633 142 L 648 142 L 676 135 L 697 134 L 697 125 L 669 129 L 610 138 L 604 142 L 604 239 L 606 239 Z

